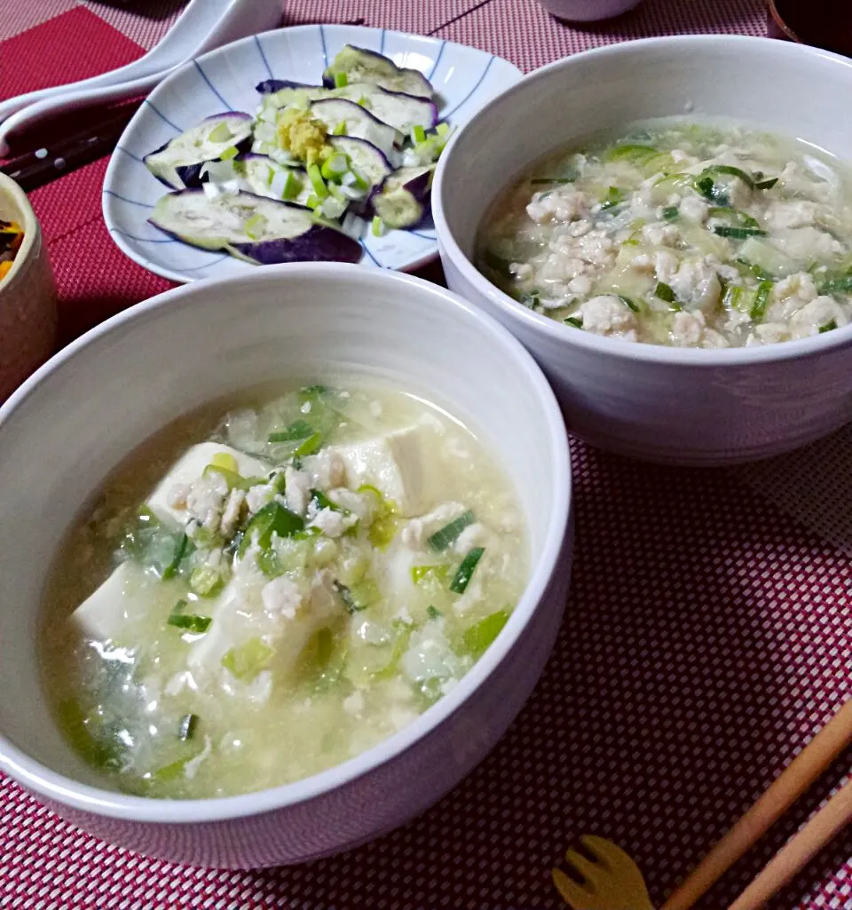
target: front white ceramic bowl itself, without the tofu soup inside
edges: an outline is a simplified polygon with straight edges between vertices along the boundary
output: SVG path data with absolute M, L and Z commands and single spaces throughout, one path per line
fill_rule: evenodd
M 523 598 L 456 689 L 330 771 L 225 799 L 105 789 L 69 750 L 41 693 L 36 614 L 57 544 L 105 474 L 152 431 L 241 387 L 324 369 L 398 380 L 469 421 L 515 480 L 526 513 L 532 572 Z M 298 264 L 168 291 L 89 332 L 6 402 L 0 465 L 0 769 L 86 830 L 168 860 L 295 863 L 422 812 L 506 730 L 562 616 L 570 469 L 556 399 L 505 329 L 418 278 Z

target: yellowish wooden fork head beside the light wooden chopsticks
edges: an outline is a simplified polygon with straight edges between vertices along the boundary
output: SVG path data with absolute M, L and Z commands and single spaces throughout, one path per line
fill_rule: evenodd
M 580 844 L 586 855 L 576 850 L 565 854 L 570 876 L 553 870 L 553 884 L 568 905 L 574 910 L 654 910 L 642 873 L 624 850 L 590 834 Z

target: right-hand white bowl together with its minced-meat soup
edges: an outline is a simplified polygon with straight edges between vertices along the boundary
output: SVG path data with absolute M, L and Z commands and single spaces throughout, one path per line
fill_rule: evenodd
M 596 445 L 710 465 L 816 440 L 850 414 L 850 89 L 843 57 L 735 35 L 546 66 L 447 147 L 447 283 Z

